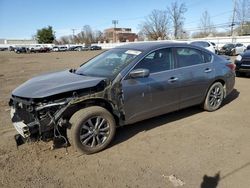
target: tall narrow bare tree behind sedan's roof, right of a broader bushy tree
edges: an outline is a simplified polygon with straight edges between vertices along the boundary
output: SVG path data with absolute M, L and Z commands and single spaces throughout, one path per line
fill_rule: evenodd
M 187 11 L 185 3 L 179 5 L 178 1 L 172 2 L 171 6 L 167 8 L 168 14 L 174 28 L 174 37 L 180 38 L 183 32 L 184 14 Z

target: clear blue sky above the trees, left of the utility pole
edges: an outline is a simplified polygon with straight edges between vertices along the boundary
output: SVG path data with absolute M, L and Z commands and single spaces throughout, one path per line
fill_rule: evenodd
M 0 38 L 30 39 L 37 29 L 51 25 L 56 37 L 79 33 L 84 25 L 103 31 L 113 27 L 138 25 L 153 9 L 166 9 L 170 0 L 0 0 Z M 182 0 L 187 7 L 184 28 L 194 32 L 202 13 L 207 10 L 215 25 L 228 23 L 232 17 L 232 0 Z M 220 29 L 228 29 L 224 26 Z

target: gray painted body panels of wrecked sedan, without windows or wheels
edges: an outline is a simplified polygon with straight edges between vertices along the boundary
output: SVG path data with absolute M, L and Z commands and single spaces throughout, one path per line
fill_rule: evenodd
M 213 58 L 210 63 L 152 73 L 145 78 L 129 78 L 128 75 L 133 67 L 147 54 L 157 49 L 175 47 L 198 49 L 211 54 Z M 234 72 L 226 66 L 229 62 L 206 49 L 166 42 L 129 44 L 118 48 L 142 51 L 111 81 L 111 85 L 108 85 L 111 92 L 103 95 L 104 100 L 112 99 L 112 105 L 116 107 L 115 111 L 125 116 L 123 124 L 200 104 L 209 86 L 218 79 L 226 83 L 226 94 L 229 94 L 234 87 Z M 206 72 L 208 69 L 211 71 Z M 103 79 L 105 78 L 86 77 L 62 71 L 35 77 L 19 86 L 12 94 L 25 98 L 44 98 L 94 87 Z M 84 97 L 85 99 L 87 96 Z

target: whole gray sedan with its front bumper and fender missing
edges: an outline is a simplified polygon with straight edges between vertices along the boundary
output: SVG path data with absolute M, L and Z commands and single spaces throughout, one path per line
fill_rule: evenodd
M 82 153 L 106 148 L 116 128 L 201 104 L 217 110 L 235 66 L 182 43 L 137 43 L 103 52 L 76 70 L 37 76 L 12 92 L 17 144 L 63 138 Z

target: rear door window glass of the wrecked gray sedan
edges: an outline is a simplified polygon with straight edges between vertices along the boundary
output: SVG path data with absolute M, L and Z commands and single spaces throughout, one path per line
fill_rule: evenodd
M 178 68 L 204 63 L 204 57 L 199 50 L 192 48 L 176 48 Z

